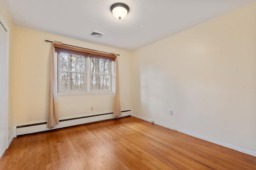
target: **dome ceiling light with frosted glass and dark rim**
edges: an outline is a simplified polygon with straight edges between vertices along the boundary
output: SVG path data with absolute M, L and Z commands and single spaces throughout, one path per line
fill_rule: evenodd
M 110 11 L 119 20 L 123 19 L 129 12 L 130 8 L 123 3 L 116 3 L 110 7 Z

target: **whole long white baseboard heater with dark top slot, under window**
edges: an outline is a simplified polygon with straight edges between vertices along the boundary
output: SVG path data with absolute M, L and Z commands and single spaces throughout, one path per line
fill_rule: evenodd
M 125 110 L 125 111 L 122 111 L 121 116 L 116 117 L 116 118 L 130 116 L 131 113 L 132 113 L 131 110 Z M 64 127 L 74 126 L 74 125 L 82 125 L 82 124 L 86 124 L 86 123 L 93 123 L 93 122 L 116 119 L 116 118 L 113 117 L 113 112 L 112 112 L 112 113 L 103 113 L 103 114 L 98 114 L 98 115 L 89 115 L 89 116 L 84 116 L 84 117 L 75 117 L 75 118 L 70 118 L 70 119 L 62 119 L 62 120 L 60 120 L 60 124 L 56 125 L 52 129 L 49 129 L 46 127 L 46 122 L 14 126 L 14 127 L 16 127 L 16 131 L 14 128 L 14 136 L 17 137 L 17 136 L 21 136 L 21 135 L 27 135 L 30 133 L 49 131 L 49 130 L 53 130 L 53 129 L 60 129 L 60 128 L 64 128 Z

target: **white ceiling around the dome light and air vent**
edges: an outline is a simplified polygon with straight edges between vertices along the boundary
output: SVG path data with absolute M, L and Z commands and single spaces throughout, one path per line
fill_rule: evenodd
M 129 51 L 255 2 L 255 0 L 3 1 L 16 26 Z M 110 12 L 110 6 L 117 2 L 125 3 L 130 8 L 126 18 L 122 20 L 114 18 Z M 91 37 L 93 30 L 105 35 L 101 38 Z

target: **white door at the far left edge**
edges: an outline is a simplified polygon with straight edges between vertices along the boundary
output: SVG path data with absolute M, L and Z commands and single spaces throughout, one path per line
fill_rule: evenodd
M 0 157 L 7 149 L 8 141 L 8 34 L 2 22 L 0 18 Z

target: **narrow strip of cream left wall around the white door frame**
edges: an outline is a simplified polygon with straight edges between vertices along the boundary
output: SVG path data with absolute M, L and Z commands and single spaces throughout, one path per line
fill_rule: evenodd
M 8 138 L 13 134 L 13 48 L 14 48 L 14 24 L 5 4 L 0 0 L 0 14 L 9 28 L 9 122 L 8 122 Z

